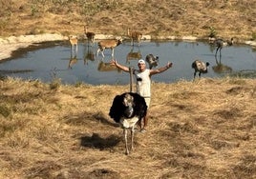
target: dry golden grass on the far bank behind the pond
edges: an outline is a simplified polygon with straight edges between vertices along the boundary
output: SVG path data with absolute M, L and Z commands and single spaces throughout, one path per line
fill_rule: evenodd
M 125 35 L 256 38 L 256 2 L 251 0 L 0 0 L 0 35 L 90 31 Z

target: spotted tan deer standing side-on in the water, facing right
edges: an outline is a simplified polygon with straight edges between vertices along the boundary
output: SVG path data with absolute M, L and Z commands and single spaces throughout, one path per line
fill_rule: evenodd
M 105 57 L 104 50 L 111 49 L 111 56 L 114 56 L 114 49 L 122 43 L 122 39 L 106 39 L 101 40 L 97 43 L 98 49 L 96 51 L 96 56 L 98 56 L 98 52 L 101 51 L 102 57 Z

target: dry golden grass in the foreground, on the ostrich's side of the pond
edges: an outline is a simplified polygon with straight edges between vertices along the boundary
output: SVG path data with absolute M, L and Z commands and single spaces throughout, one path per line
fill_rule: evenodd
M 126 156 L 108 112 L 129 86 L 5 79 L 0 178 L 255 178 L 255 82 L 153 83 L 149 129 Z

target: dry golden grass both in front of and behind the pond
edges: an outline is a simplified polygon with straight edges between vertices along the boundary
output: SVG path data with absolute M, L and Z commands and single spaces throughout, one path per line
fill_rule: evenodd
M 60 32 L 256 39 L 251 0 L 0 0 L 0 36 Z M 0 79 L 0 178 L 256 178 L 256 80 L 153 83 L 124 154 L 108 112 L 129 86 Z

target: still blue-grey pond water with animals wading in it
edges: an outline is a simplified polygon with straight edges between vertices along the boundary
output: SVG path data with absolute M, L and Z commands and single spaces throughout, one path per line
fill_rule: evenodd
M 93 85 L 129 83 L 127 73 L 109 65 L 113 58 L 110 52 L 106 53 L 105 58 L 99 55 L 97 59 L 97 47 L 88 46 L 86 41 L 78 44 L 76 55 L 72 54 L 70 48 L 67 40 L 19 50 L 12 59 L 0 62 L 0 75 L 51 82 L 49 74 L 54 69 L 56 77 L 64 84 L 75 84 L 77 81 Z M 231 72 L 256 70 L 256 51 L 249 46 L 225 48 L 221 58 L 219 54 L 215 58 L 214 48 L 208 42 L 154 41 L 143 42 L 139 47 L 131 47 L 130 43 L 124 42 L 117 47 L 114 58 L 129 67 L 137 67 L 138 60 L 146 59 L 146 55 L 151 53 L 159 56 L 160 67 L 170 61 L 174 64 L 171 70 L 152 78 L 153 81 L 166 83 L 193 80 L 191 64 L 194 59 L 210 63 L 211 68 L 203 77 L 223 77 Z

